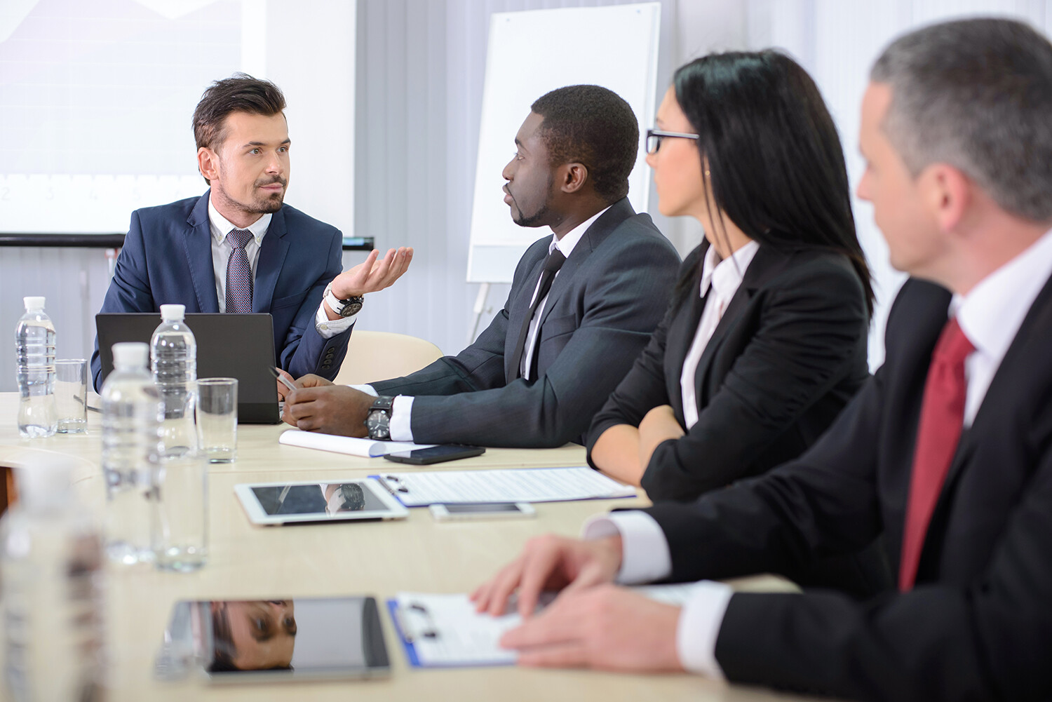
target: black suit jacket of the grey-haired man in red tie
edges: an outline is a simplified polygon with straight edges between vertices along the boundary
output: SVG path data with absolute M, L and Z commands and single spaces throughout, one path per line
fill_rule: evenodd
M 898 569 L 925 379 L 950 294 L 908 281 L 884 365 L 800 459 L 692 504 L 647 512 L 672 580 L 785 573 L 884 533 Z M 734 595 L 715 656 L 727 678 L 894 702 L 1052 699 L 1052 282 L 960 437 L 916 585 Z

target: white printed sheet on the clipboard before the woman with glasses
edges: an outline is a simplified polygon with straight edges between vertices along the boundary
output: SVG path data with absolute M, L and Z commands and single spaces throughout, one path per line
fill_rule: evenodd
M 634 487 L 587 466 L 384 473 L 381 478 L 404 488 L 396 497 L 407 507 L 443 502 L 559 502 L 635 497 Z

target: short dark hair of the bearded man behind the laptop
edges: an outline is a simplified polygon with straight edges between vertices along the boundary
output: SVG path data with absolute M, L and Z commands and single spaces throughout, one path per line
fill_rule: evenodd
M 236 73 L 217 80 L 201 96 L 194 111 L 194 140 L 198 148 L 223 143 L 223 120 L 230 113 L 274 117 L 285 109 L 281 88 L 268 80 Z

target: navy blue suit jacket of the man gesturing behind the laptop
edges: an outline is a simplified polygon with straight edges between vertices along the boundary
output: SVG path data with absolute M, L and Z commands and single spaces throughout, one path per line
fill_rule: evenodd
M 159 314 L 162 304 L 186 305 L 187 313 L 219 312 L 208 224 L 210 192 L 132 213 L 100 312 Z M 343 267 L 342 253 L 339 229 L 289 205 L 274 213 L 263 237 L 252 312 L 274 317 L 278 364 L 296 378 L 313 373 L 331 380 L 347 353 L 349 329 L 323 339 L 315 327 L 325 286 Z M 262 339 L 249 341 L 264 343 Z M 96 337 L 92 377 L 97 390 L 101 374 Z

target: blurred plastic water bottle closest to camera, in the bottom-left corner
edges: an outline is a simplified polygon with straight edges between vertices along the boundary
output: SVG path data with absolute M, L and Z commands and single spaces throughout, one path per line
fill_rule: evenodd
M 104 697 L 101 545 L 62 465 L 19 468 L 0 520 L 5 679 L 14 700 Z

